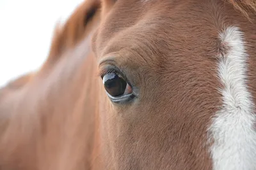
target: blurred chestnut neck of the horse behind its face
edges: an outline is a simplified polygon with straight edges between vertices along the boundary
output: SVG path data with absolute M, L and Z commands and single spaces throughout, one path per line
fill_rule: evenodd
M 88 48 L 87 48 L 88 47 Z M 87 49 L 86 49 L 87 48 Z M 0 106 L 1 167 L 91 169 L 97 113 L 95 58 L 88 42 L 42 70 Z M 14 106 L 14 107 L 13 107 Z M 19 166 L 19 167 L 17 167 Z

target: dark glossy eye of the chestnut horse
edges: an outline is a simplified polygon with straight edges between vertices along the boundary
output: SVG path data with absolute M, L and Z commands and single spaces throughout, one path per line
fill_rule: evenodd
M 124 78 L 116 73 L 105 74 L 103 77 L 103 84 L 108 94 L 112 97 L 119 97 L 132 93 L 131 86 L 124 80 Z

